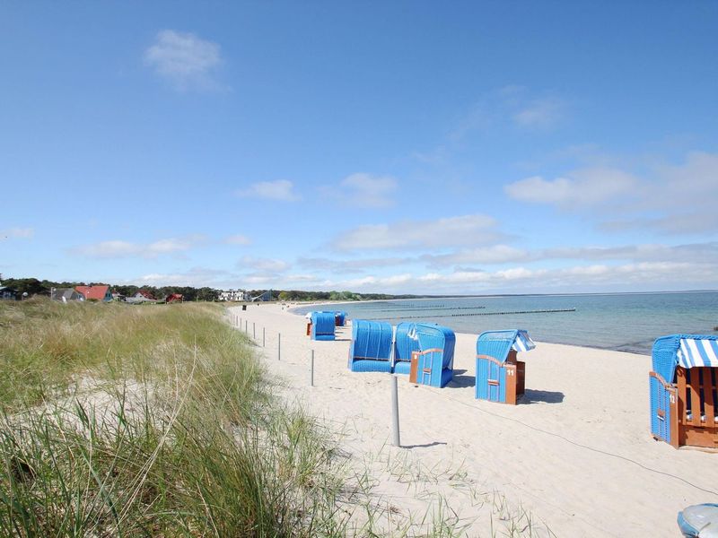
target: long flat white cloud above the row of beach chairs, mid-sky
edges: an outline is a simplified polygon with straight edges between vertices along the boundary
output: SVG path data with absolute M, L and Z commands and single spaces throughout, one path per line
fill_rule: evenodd
M 495 224 L 495 220 L 486 215 L 367 224 L 343 233 L 334 239 L 331 247 L 348 251 L 477 245 L 501 237 Z

